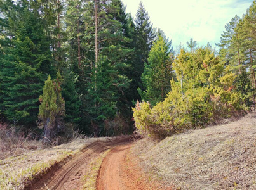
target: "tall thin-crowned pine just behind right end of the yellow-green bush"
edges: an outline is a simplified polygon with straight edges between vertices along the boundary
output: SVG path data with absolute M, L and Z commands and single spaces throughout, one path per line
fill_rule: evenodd
M 248 83 L 250 80 L 246 70 L 251 70 L 252 73 L 253 70 L 250 68 L 250 49 L 246 49 L 246 29 L 242 29 L 244 28 L 243 25 L 244 21 L 237 15 L 227 23 L 226 31 L 223 32 L 220 39 L 219 46 L 221 48 L 219 54 L 226 66 L 231 66 L 232 71 L 236 73 L 237 77 L 234 80 L 234 86 L 237 87 L 237 91 L 241 92 L 244 103 L 250 105 L 252 102 L 248 97 L 253 94 L 253 74 L 251 75 L 252 83 L 250 84 Z

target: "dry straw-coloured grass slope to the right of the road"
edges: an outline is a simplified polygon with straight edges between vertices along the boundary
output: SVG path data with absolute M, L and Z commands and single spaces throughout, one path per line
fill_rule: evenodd
M 256 115 L 191 130 L 160 141 L 139 141 L 133 153 L 147 172 L 177 189 L 256 189 Z

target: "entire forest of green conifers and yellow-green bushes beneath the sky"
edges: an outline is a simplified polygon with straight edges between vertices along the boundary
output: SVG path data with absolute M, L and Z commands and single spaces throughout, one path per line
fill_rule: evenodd
M 225 28 L 174 50 L 142 3 L 0 0 L 0 122 L 161 139 L 255 111 L 256 1 Z

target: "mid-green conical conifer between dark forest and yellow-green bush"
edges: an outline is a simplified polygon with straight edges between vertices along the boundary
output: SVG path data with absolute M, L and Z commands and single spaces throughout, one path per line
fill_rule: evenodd
M 172 72 L 172 49 L 171 42 L 166 41 L 161 34 L 158 40 L 153 43 L 149 52 L 149 63 L 145 63 L 142 82 L 146 91 L 138 89 L 140 96 L 151 105 L 156 105 L 166 98 L 170 91 L 170 80 L 173 79 Z

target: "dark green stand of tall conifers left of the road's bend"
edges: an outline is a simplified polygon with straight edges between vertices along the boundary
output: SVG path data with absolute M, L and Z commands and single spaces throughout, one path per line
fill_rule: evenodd
M 156 39 L 142 3 L 135 20 L 119 0 L 3 0 L 0 11 L 4 121 L 48 127 L 49 137 L 67 123 L 95 136 L 133 130 Z

